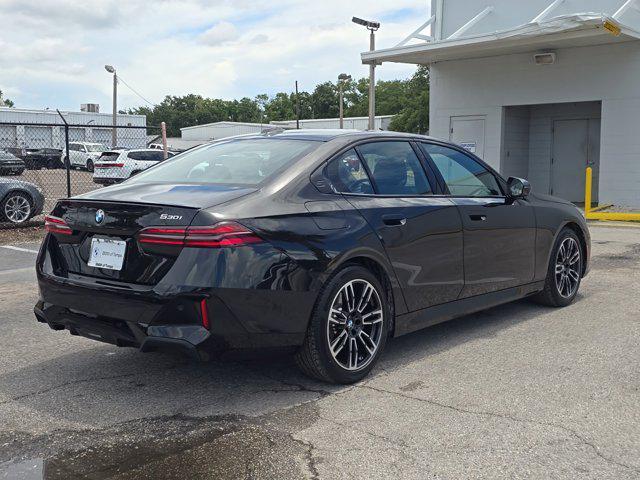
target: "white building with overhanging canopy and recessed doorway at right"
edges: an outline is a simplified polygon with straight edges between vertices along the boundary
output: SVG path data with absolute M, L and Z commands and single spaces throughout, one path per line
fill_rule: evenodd
M 432 0 L 431 13 L 362 54 L 430 65 L 431 135 L 577 203 L 591 166 L 595 201 L 640 207 L 640 1 Z

